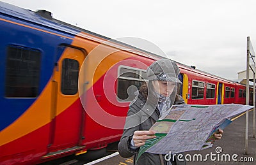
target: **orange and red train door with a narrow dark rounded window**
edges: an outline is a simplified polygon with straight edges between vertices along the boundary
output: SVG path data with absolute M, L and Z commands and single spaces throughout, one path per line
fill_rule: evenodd
M 52 110 L 49 152 L 76 149 L 84 120 L 79 99 L 78 75 L 84 61 L 83 51 L 61 46 L 52 76 Z

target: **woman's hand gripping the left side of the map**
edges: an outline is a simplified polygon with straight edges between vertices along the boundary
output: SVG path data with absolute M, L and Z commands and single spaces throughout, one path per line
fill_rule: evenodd
M 156 138 L 154 134 L 154 131 L 135 131 L 132 136 L 135 147 L 141 147 L 146 140 Z

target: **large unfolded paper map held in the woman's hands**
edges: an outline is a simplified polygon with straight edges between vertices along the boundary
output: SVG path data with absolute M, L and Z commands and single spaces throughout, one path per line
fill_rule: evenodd
M 157 137 L 140 147 L 138 157 L 144 152 L 175 154 L 212 147 L 215 131 L 224 129 L 231 118 L 252 108 L 242 104 L 174 105 L 166 117 L 150 128 Z

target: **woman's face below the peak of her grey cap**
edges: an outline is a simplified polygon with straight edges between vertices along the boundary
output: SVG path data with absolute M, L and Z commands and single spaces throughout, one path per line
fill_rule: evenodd
M 152 83 L 155 91 L 165 97 L 169 97 L 176 86 L 175 82 L 153 81 Z

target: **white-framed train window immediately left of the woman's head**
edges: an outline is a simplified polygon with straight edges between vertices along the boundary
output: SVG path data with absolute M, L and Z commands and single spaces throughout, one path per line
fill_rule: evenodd
M 120 102 L 132 101 L 136 91 L 147 81 L 145 70 L 120 66 L 118 69 L 117 97 Z

